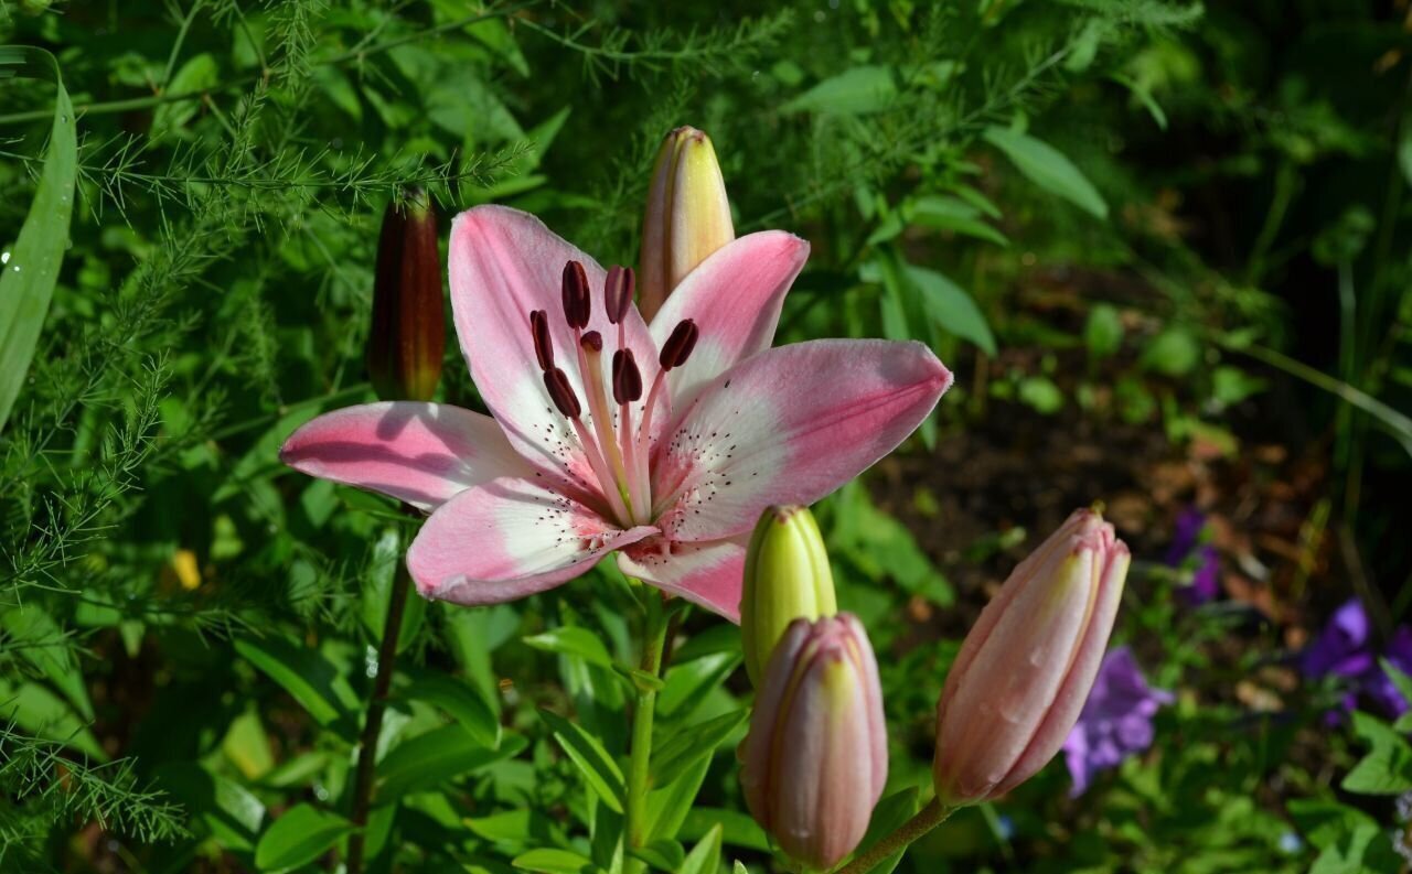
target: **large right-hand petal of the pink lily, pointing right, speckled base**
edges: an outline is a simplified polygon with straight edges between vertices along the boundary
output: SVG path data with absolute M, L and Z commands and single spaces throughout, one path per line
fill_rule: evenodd
M 731 537 L 770 505 L 813 503 L 891 453 L 952 374 L 921 343 L 815 340 L 722 374 L 654 458 L 658 526 Z

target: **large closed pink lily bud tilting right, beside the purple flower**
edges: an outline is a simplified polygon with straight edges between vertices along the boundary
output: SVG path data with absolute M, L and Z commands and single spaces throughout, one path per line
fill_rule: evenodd
M 1055 757 L 1103 663 L 1128 561 L 1113 526 L 1077 510 L 986 605 L 938 705 L 943 804 L 1003 795 Z

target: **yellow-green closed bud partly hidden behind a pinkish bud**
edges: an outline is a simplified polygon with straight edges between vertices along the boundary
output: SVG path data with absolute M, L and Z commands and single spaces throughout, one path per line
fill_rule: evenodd
M 740 634 L 750 682 L 760 685 L 770 654 L 795 619 L 839 610 L 823 534 L 809 507 L 768 507 L 746 553 Z

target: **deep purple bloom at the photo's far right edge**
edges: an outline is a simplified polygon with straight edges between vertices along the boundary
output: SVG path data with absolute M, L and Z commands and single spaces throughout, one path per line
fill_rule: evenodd
M 1401 716 L 1409 702 L 1378 664 L 1368 612 L 1354 598 L 1334 610 L 1319 636 L 1299 657 L 1299 670 L 1310 679 L 1339 678 L 1346 689 L 1343 708 L 1351 710 L 1367 695 L 1389 716 Z M 1402 672 L 1412 672 L 1412 629 L 1398 627 L 1382 653 Z

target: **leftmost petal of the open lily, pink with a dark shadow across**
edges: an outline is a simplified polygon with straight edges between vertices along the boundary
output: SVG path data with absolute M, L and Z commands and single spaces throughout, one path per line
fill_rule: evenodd
M 497 476 L 531 472 L 490 416 L 417 400 L 325 413 L 289 434 L 280 461 L 424 510 Z

